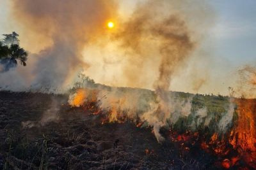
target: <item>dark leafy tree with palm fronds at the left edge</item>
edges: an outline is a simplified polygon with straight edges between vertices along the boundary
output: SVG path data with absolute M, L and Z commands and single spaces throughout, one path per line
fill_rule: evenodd
M 0 72 L 9 71 L 10 68 L 16 67 L 18 62 L 22 66 L 26 66 L 26 60 L 28 59 L 28 52 L 24 48 L 20 48 L 19 39 L 16 32 L 12 34 L 3 34 L 4 39 L 0 41 Z

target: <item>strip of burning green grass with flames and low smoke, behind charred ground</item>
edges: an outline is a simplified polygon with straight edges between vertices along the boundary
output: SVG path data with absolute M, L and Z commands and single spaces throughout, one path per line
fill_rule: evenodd
M 159 121 L 158 112 L 154 112 L 154 108 L 152 110 L 152 104 L 156 103 L 157 106 L 157 99 L 149 90 L 138 95 L 136 91 L 120 89 L 77 89 L 70 95 L 68 103 L 94 115 L 102 115 L 102 124 L 132 120 L 137 127 L 152 127 L 156 139 L 161 138 L 159 143 L 170 139 L 179 145 L 182 153 L 192 152 L 193 148 L 199 147 L 218 157 L 216 164 L 221 167 L 256 168 L 256 100 L 219 97 L 212 104 L 198 108 L 203 104 L 204 96 L 180 98 L 170 94 L 170 105 L 173 107 L 170 111 L 173 112 L 165 122 Z M 218 101 L 225 104 L 214 105 Z M 181 108 L 189 104 L 189 114 L 185 114 Z M 219 112 L 214 113 L 216 110 Z M 157 125 L 159 123 L 161 125 Z M 161 133 L 161 129 L 168 130 L 169 138 Z M 149 154 L 149 151 L 145 152 Z

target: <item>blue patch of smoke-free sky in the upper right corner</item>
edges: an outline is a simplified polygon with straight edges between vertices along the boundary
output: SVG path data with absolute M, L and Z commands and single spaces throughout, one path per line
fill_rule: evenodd
M 210 1 L 217 22 L 211 38 L 216 55 L 232 64 L 252 63 L 256 59 L 256 1 Z M 256 63 L 255 63 L 256 64 Z

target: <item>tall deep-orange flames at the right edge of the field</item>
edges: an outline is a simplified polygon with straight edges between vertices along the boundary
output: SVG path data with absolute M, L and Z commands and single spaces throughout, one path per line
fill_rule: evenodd
M 228 143 L 237 151 L 237 156 L 230 159 L 223 159 L 221 165 L 229 169 L 236 162 L 242 159 L 247 165 L 256 168 L 256 100 L 255 99 L 236 99 L 238 118 L 230 132 L 228 138 L 222 136 L 219 139 L 218 134 L 214 133 L 210 142 L 202 143 L 201 147 L 207 150 L 210 146 L 216 155 L 226 156 L 230 153 Z M 227 139 L 227 140 L 225 140 Z

